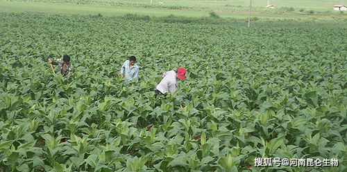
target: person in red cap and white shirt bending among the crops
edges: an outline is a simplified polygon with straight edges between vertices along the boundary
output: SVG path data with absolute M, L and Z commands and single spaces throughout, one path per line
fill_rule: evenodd
M 155 87 L 155 97 L 165 93 L 174 93 L 177 88 L 177 79 L 185 79 L 185 68 L 178 68 L 176 71 L 170 70 L 162 75 L 162 81 Z

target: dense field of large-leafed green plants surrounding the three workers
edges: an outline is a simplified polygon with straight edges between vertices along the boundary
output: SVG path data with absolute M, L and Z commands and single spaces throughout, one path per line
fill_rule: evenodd
M 0 21 L 0 171 L 346 169 L 346 28 Z M 46 61 L 65 53 L 71 82 Z M 136 84 L 117 77 L 130 55 Z M 178 66 L 187 79 L 154 99 L 162 73 Z M 339 166 L 256 167 L 255 157 Z

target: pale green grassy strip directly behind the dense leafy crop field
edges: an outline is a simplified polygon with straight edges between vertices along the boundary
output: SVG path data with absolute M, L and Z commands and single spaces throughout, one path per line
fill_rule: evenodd
M 100 0 L 96 0 L 100 1 Z M 72 1 L 73 2 L 73 1 Z M 168 1 L 173 2 L 173 1 Z M 193 4 L 194 1 L 187 1 L 187 6 Z M 196 1 L 195 1 L 196 2 Z M 201 1 L 202 4 L 212 1 Z M 216 1 L 216 4 L 221 1 Z M 257 1 L 255 1 L 257 2 Z M 153 1 L 155 3 L 155 1 Z M 179 3 L 179 2 L 178 2 Z M 240 4 L 238 1 L 237 4 Z M 257 5 L 258 4 L 258 5 Z M 260 6 L 260 3 L 255 3 L 255 6 Z M 248 12 L 246 11 L 225 11 L 225 10 L 213 10 L 220 17 L 231 17 L 236 19 L 246 19 Z M 3 1 L 0 0 L 0 12 L 45 12 L 49 14 L 60 15 L 98 15 L 101 14 L 106 17 L 119 17 L 126 14 L 135 15 L 148 15 L 151 17 L 165 17 L 169 15 L 184 16 L 184 17 L 207 17 L 211 10 L 170 10 L 166 8 L 141 8 L 133 6 L 103 6 L 98 4 L 76 4 L 76 3 L 50 3 L 50 2 L 25 2 L 25 1 Z M 309 14 L 296 14 L 287 12 L 284 14 L 276 14 L 269 12 L 253 12 L 252 17 L 258 19 L 298 19 L 298 20 L 310 20 L 310 19 L 325 19 L 335 20 L 341 18 L 347 18 L 347 15 L 309 15 Z

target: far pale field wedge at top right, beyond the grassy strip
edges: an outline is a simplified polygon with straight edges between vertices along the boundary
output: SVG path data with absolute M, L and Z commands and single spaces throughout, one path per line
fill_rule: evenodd
M 204 10 L 204 11 L 223 11 L 223 12 L 245 12 L 248 11 L 249 1 L 196 1 L 196 0 L 6 0 L 6 1 L 24 1 L 34 3 L 72 3 L 72 4 L 92 4 L 103 6 L 120 6 L 120 7 L 139 7 L 139 8 L 161 8 L 167 10 Z M 310 2 L 302 1 L 282 1 L 271 2 L 276 8 L 266 8 L 267 1 L 253 1 L 252 10 L 255 12 L 264 12 L 266 14 L 325 14 L 337 15 L 337 12 L 332 10 L 334 4 L 341 3 L 337 0 L 322 2 L 314 0 Z M 312 6 L 314 3 L 314 6 Z M 343 12 L 339 12 L 343 14 Z

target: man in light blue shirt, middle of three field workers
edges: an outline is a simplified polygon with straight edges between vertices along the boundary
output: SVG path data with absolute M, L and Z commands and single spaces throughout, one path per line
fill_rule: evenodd
M 135 81 L 139 80 L 139 66 L 136 64 L 136 57 L 130 56 L 128 60 L 126 60 L 121 66 L 121 73 L 119 73 L 121 78 L 125 78 L 126 80 Z

